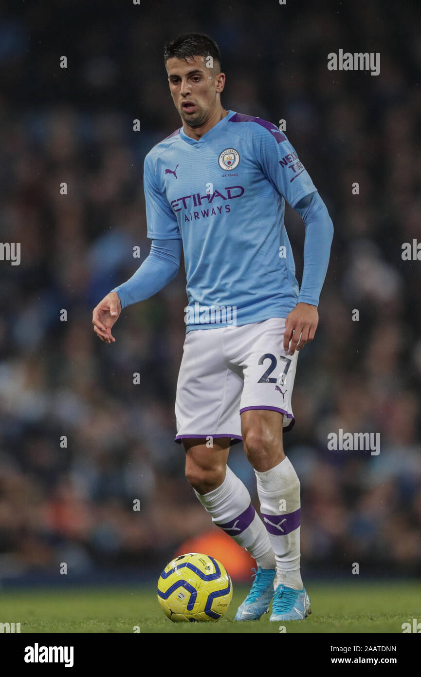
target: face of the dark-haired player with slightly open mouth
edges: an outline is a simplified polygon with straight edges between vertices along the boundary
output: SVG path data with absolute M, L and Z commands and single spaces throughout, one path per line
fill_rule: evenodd
M 171 57 L 165 64 L 171 96 L 181 119 L 190 127 L 205 123 L 219 102 L 225 75 L 206 67 L 206 57 L 195 56 L 187 61 Z

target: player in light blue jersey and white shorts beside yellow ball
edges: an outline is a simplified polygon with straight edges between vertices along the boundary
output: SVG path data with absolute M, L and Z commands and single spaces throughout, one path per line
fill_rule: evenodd
M 184 251 L 187 332 L 177 383 L 176 441 L 185 473 L 213 522 L 257 561 L 236 620 L 304 619 L 300 483 L 282 433 L 294 424 L 298 352 L 312 341 L 332 242 L 328 210 L 286 135 L 221 105 L 217 44 L 190 33 L 164 48 L 182 126 L 145 158 L 150 255 L 94 309 L 112 343 L 123 308 L 168 284 Z M 305 224 L 301 288 L 284 225 L 285 200 Z M 241 440 L 254 468 L 261 517 L 227 466 Z

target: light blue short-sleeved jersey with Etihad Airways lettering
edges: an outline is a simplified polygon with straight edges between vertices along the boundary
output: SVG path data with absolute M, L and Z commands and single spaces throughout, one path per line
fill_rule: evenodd
M 231 110 L 197 141 L 181 127 L 146 156 L 144 189 L 148 237 L 183 241 L 187 331 L 317 305 L 299 294 L 284 226 L 285 200 L 317 189 L 278 127 Z

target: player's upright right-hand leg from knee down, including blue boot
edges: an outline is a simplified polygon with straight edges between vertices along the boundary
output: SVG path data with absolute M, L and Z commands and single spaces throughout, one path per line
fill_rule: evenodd
M 310 607 L 300 573 L 300 482 L 284 454 L 283 415 L 247 410 L 241 418 L 244 450 L 256 473 L 261 515 L 276 558 L 275 591 L 279 590 L 271 619 L 304 618 Z

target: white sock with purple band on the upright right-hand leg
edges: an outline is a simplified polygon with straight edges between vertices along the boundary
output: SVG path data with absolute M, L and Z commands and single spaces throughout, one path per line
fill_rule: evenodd
M 275 588 L 284 583 L 301 590 L 300 481 L 289 458 L 265 473 L 254 472 L 263 523 L 275 552 Z

